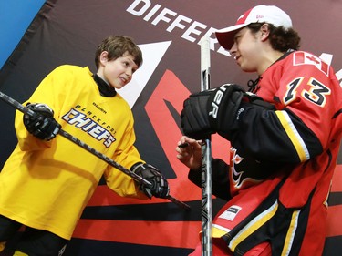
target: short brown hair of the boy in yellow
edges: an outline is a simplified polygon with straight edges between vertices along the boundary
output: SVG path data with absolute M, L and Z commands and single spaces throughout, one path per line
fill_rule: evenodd
M 117 59 L 128 52 L 134 57 L 134 62 L 138 67 L 142 65 L 142 53 L 140 47 L 137 46 L 129 36 L 108 36 L 105 38 L 96 50 L 95 65 L 97 68 L 99 67 L 99 56 L 103 51 L 108 52 L 109 61 Z

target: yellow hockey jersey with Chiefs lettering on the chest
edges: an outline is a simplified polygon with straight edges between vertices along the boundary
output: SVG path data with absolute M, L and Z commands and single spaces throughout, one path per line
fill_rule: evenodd
M 62 129 L 122 166 L 144 162 L 129 105 L 119 94 L 100 96 L 88 67 L 57 67 L 27 102 L 47 104 Z M 15 126 L 18 144 L 0 172 L 1 215 L 69 240 L 102 175 L 120 196 L 147 199 L 128 175 L 67 138 L 33 137 L 19 111 Z

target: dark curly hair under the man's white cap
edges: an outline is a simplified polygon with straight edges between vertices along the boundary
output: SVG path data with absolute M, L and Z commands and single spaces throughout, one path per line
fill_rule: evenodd
M 267 24 L 270 28 L 269 40 L 273 49 L 286 52 L 288 49 L 298 50 L 300 47 L 300 36 L 293 28 L 285 28 L 284 26 L 274 26 L 268 23 L 252 23 L 247 26 L 253 33 Z

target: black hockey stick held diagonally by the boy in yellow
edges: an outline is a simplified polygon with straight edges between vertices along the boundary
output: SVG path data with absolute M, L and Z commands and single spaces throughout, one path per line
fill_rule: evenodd
M 19 102 L 17 102 L 15 99 L 13 99 L 12 97 L 9 97 L 7 95 L 5 95 L 4 93 L 0 92 L 0 98 L 5 101 L 5 103 L 9 104 L 10 106 L 18 109 L 19 111 L 23 112 L 26 115 L 29 115 L 30 117 L 34 117 L 36 115 L 36 113 L 31 110 L 30 108 L 27 108 L 25 106 L 23 106 L 22 104 L 20 104 Z M 98 159 L 102 159 L 105 162 L 107 162 L 109 165 L 111 165 L 112 167 L 115 167 L 116 169 L 119 169 L 120 171 L 124 172 L 125 174 L 129 175 L 130 178 L 134 179 L 135 181 L 137 181 L 139 184 L 143 184 L 145 186 L 150 187 L 152 184 L 150 183 L 150 181 L 141 178 L 139 175 L 137 175 L 136 173 L 134 173 L 133 171 L 131 171 L 130 169 L 126 169 L 125 167 L 123 167 L 122 165 L 120 165 L 119 163 L 117 163 L 116 161 L 114 161 L 113 159 L 109 159 L 109 157 L 105 156 L 104 154 L 102 154 L 101 152 L 99 152 L 98 150 L 96 150 L 95 148 L 90 147 L 88 144 L 84 143 L 83 141 L 81 141 L 80 139 L 72 136 L 71 134 L 67 133 L 67 131 L 63 130 L 63 129 L 59 129 L 58 134 L 61 135 L 64 138 L 67 138 L 68 140 L 74 142 L 76 145 L 78 145 L 81 148 L 86 149 L 88 152 L 90 152 L 91 154 L 93 154 L 94 156 L 98 157 Z M 185 204 L 184 202 L 175 199 L 174 197 L 172 197 L 171 195 L 169 195 L 167 197 L 168 200 L 171 200 L 171 202 L 177 204 L 178 206 L 180 206 L 183 209 L 186 210 L 190 210 L 190 206 Z

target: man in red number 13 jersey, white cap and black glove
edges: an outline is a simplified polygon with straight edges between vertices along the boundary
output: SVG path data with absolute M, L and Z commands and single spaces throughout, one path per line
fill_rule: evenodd
M 257 5 L 216 32 L 237 65 L 254 72 L 184 101 L 177 158 L 201 186 L 198 139 L 231 142 L 230 163 L 212 159 L 212 194 L 227 204 L 212 221 L 213 255 L 322 255 L 327 197 L 342 135 L 342 89 L 332 67 L 299 51 L 289 15 Z M 192 252 L 201 255 L 201 243 Z

